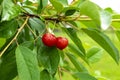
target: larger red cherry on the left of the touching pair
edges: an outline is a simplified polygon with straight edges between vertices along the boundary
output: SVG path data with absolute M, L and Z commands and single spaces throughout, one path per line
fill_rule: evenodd
M 44 43 L 44 45 L 52 47 L 56 45 L 57 39 L 55 37 L 55 35 L 51 34 L 51 33 L 45 33 L 42 36 L 42 42 Z

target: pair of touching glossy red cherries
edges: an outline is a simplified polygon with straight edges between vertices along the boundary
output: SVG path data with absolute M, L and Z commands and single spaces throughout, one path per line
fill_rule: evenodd
M 45 33 L 42 36 L 42 42 L 44 45 L 48 47 L 56 46 L 58 49 L 63 50 L 68 45 L 67 38 L 64 37 L 56 37 L 55 35 L 51 33 Z

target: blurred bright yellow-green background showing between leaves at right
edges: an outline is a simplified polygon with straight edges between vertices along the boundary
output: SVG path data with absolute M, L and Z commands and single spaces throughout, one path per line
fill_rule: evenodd
M 117 39 L 115 33 L 112 30 L 110 30 L 110 31 L 105 31 L 105 34 L 107 34 L 110 37 L 112 42 L 119 49 L 120 42 Z M 67 35 L 60 32 L 57 33 L 56 35 L 63 35 L 67 37 Z M 78 33 L 78 36 L 81 39 L 83 46 L 85 47 L 86 50 L 88 50 L 93 46 L 100 47 L 95 41 L 93 41 L 86 34 L 80 32 Z M 71 42 L 71 40 L 69 40 L 69 42 Z M 103 50 L 103 54 L 97 62 L 91 63 L 90 66 L 85 64 L 85 66 L 93 76 L 98 78 L 98 80 L 120 80 L 120 66 L 111 58 L 111 56 L 105 50 Z M 63 80 L 75 80 L 67 72 L 64 73 L 64 76 L 62 78 Z

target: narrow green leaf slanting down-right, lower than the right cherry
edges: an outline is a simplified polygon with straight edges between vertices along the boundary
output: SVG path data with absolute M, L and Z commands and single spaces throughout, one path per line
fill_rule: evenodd
M 87 69 L 82 65 L 82 63 L 77 60 L 74 55 L 67 53 L 67 56 L 79 72 L 88 72 Z

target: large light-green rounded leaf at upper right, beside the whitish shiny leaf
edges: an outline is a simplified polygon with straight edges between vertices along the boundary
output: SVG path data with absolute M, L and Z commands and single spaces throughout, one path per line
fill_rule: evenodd
M 96 4 L 90 1 L 84 1 L 79 6 L 80 13 L 89 16 L 97 26 L 100 26 L 99 8 Z

